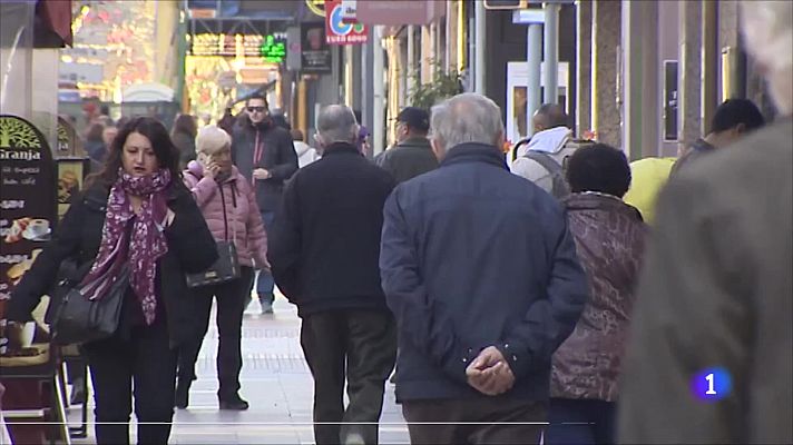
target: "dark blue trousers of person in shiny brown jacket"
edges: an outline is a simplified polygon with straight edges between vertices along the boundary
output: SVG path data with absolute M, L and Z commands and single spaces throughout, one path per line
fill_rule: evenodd
M 616 404 L 595 399 L 551 398 L 548 445 L 615 443 Z

